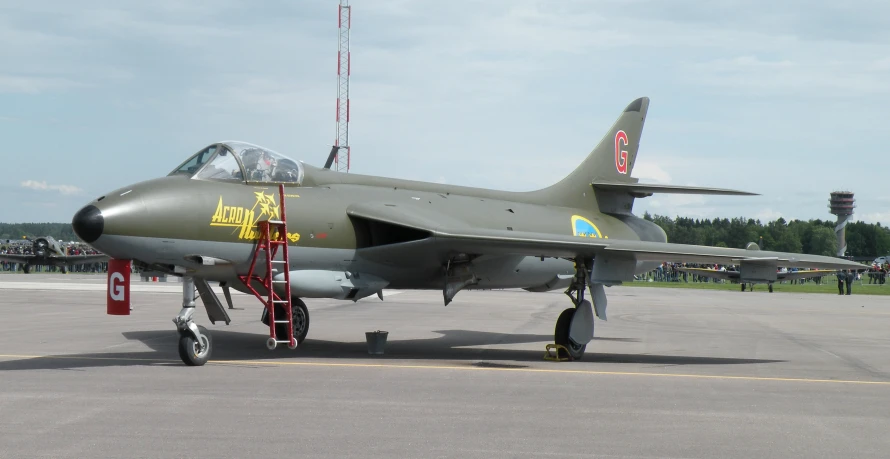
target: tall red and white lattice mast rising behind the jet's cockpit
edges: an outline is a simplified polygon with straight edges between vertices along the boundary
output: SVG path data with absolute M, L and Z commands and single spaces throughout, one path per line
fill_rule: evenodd
M 340 45 L 337 50 L 337 138 L 331 155 L 334 170 L 349 172 L 349 27 L 352 24 L 349 0 L 340 0 L 337 22 L 340 29 Z

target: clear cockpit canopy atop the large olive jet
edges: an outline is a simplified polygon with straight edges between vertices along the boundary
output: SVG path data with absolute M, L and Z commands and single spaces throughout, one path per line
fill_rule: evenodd
M 169 175 L 242 183 L 303 183 L 303 164 L 268 148 L 219 142 L 195 153 Z

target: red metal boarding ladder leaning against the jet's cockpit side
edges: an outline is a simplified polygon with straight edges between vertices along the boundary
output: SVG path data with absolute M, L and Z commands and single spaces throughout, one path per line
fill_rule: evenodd
M 256 251 L 253 254 L 253 260 L 250 262 L 250 269 L 246 276 L 238 276 L 241 282 L 250 289 L 251 292 L 266 306 L 269 314 L 269 339 L 266 341 L 266 347 L 275 349 L 278 344 L 287 344 L 290 349 L 296 349 L 297 340 L 294 338 L 294 318 L 292 305 L 290 301 L 290 262 L 287 251 L 287 218 L 284 211 L 284 185 L 278 185 L 278 202 L 281 212 L 281 220 L 263 220 L 257 222 L 260 237 L 257 240 Z M 276 260 L 278 249 L 281 249 L 282 259 Z M 257 260 L 265 264 L 266 270 L 263 276 L 254 273 L 257 266 Z M 283 267 L 284 280 L 274 280 L 275 272 L 272 266 Z M 276 269 L 275 271 L 278 271 Z M 265 296 L 258 292 L 254 287 L 254 282 L 260 282 L 268 292 Z M 274 285 L 281 284 L 284 287 L 284 299 L 275 293 Z M 275 305 L 281 305 L 285 310 L 285 318 L 275 318 Z M 275 334 L 275 325 L 287 324 L 287 339 L 280 339 Z

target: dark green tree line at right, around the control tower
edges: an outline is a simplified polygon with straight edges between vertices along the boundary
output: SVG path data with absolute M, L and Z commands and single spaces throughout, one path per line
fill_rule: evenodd
M 756 242 L 763 245 L 763 250 L 827 256 L 837 254 L 835 223 L 828 220 L 788 222 L 778 218 L 763 224 L 751 218 L 670 218 L 648 212 L 643 218 L 662 227 L 668 241 L 679 244 L 744 248 L 749 242 Z M 847 256 L 890 254 L 890 229 L 880 223 L 848 223 L 846 240 Z

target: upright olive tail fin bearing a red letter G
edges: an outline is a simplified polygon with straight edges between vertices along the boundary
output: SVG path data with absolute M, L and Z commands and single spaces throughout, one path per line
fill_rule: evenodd
M 637 159 L 648 110 L 648 97 L 631 102 L 578 168 L 539 193 L 552 204 L 587 207 L 595 201 L 590 186 L 594 180 L 636 183 L 637 179 L 630 174 Z

